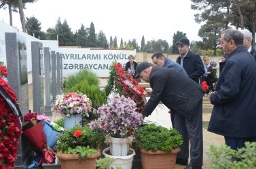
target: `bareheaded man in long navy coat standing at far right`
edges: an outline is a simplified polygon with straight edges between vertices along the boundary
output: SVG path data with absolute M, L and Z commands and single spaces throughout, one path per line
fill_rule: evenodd
M 243 39 L 236 29 L 221 34 L 220 48 L 227 57 L 216 91 L 209 95 L 214 107 L 208 131 L 223 135 L 232 149 L 256 137 L 256 62 L 242 45 Z

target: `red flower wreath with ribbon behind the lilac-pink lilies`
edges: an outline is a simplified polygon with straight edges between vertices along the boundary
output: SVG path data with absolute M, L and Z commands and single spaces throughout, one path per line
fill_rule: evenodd
M 115 92 L 124 95 L 126 98 L 130 97 L 133 99 L 136 103 L 137 112 L 141 112 L 147 102 L 143 95 L 145 87 L 141 87 L 139 81 L 133 78 L 132 74 L 128 74 L 128 72 L 124 71 L 120 63 L 111 66 L 110 74 L 115 78 Z M 111 80 L 111 78 L 109 79 Z M 113 87 L 110 88 L 112 89 Z M 108 87 L 106 87 L 106 89 L 108 89 Z

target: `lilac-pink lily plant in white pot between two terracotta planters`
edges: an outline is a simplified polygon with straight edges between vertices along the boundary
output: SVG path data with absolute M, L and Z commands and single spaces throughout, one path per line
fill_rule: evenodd
M 94 111 L 99 118 L 88 124 L 90 128 L 100 128 L 100 130 L 107 133 L 110 147 L 104 149 L 103 154 L 109 149 L 110 158 L 114 158 L 115 161 L 120 158 L 133 160 L 133 149 L 130 149 L 130 159 L 126 159 L 129 153 L 129 145 L 134 139 L 134 130 L 138 128 L 143 120 L 143 117 L 135 110 L 136 103 L 132 99 L 113 94 L 111 104 L 109 106 L 103 105 Z M 132 162 L 132 160 L 130 161 Z M 115 162 L 113 164 L 118 165 Z

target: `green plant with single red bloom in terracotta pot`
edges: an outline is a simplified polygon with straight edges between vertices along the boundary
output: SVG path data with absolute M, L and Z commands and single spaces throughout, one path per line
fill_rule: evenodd
M 104 141 L 105 134 L 99 128 L 73 126 L 60 133 L 56 149 L 61 168 L 96 168 L 96 158 L 100 156 L 98 147 Z

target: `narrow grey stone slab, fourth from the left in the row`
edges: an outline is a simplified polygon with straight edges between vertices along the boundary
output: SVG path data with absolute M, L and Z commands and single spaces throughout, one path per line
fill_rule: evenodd
M 56 72 L 57 72 L 57 64 L 56 64 L 56 52 L 52 51 L 51 53 L 51 57 L 52 57 L 52 99 L 54 100 L 56 98 Z

